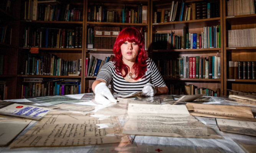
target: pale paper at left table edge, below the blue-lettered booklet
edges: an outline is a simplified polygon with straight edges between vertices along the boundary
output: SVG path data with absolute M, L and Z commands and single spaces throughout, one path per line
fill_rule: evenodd
M 7 145 L 13 140 L 31 120 L 11 117 L 1 117 L 0 119 L 0 146 Z

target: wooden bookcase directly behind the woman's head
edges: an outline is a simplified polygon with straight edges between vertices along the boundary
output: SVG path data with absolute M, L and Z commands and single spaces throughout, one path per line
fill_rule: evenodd
M 134 9 L 136 10 L 138 8 L 138 5 L 146 5 L 147 6 L 147 23 L 132 23 L 132 21 L 129 22 L 122 22 L 122 9 L 124 9 L 124 5 L 127 8 L 127 10 Z M 119 16 L 119 21 L 114 20 L 113 21 L 91 21 L 88 20 L 88 10 L 92 6 L 104 6 L 106 10 L 109 12 L 116 12 Z M 105 0 L 86 0 L 86 11 L 85 11 L 85 44 L 88 44 L 88 29 L 94 28 L 95 26 L 100 27 L 120 27 L 120 31 L 126 27 L 135 27 L 137 29 L 143 28 L 144 31 L 147 33 L 147 48 L 149 49 L 149 41 L 150 41 L 150 0 L 113 0 L 113 1 L 105 1 Z M 94 36 L 95 38 L 95 36 Z M 90 58 L 90 56 L 94 56 L 95 58 L 104 60 L 105 57 L 114 55 L 112 48 L 87 48 L 86 46 L 86 52 L 84 53 L 84 66 L 86 66 L 86 58 Z M 88 63 L 89 65 L 89 63 Z M 83 72 L 85 74 L 86 67 L 84 67 Z M 84 76 L 84 89 L 91 88 L 92 83 L 96 79 L 96 76 Z

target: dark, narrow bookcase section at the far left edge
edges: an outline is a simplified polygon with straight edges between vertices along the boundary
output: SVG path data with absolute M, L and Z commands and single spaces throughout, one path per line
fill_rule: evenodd
M 7 0 L 1 1 L 0 20 L 1 27 L 5 28 L 5 39 L 0 41 L 3 63 L 0 63 L 2 72 L 0 74 L 1 82 L 5 82 L 6 95 L 5 99 L 17 98 L 17 66 L 18 66 L 18 29 L 19 29 L 19 12 L 20 1 L 10 0 L 10 8 L 7 8 Z M 2 30 L 2 29 L 1 29 Z M 2 31 L 1 31 L 2 34 Z M 1 88 L 1 95 L 2 95 Z M 3 97 L 1 97 L 3 100 Z

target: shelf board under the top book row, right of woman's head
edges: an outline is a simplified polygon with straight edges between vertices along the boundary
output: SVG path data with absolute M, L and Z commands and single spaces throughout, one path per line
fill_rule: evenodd
M 174 21 L 165 23 L 151 23 L 153 28 L 156 30 L 183 30 L 183 26 L 190 28 L 198 28 L 203 26 L 215 26 L 216 22 L 220 22 L 220 17 L 218 18 L 207 18 L 189 21 Z M 167 26 L 168 25 L 168 26 Z

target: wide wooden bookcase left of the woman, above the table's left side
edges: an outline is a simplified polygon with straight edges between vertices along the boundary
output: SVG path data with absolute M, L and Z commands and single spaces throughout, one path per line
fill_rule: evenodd
M 75 18 L 72 18 L 73 21 L 71 20 L 71 16 L 70 18 L 67 17 L 67 20 L 65 20 L 65 18 L 61 18 L 61 13 L 59 15 L 59 20 L 57 20 L 56 16 L 51 16 L 52 20 L 50 19 L 50 15 L 48 16 L 48 20 L 43 20 L 43 18 L 40 18 L 40 15 L 37 16 L 36 20 L 32 19 L 31 17 L 28 17 L 28 12 L 29 10 L 25 10 L 25 4 L 28 4 L 33 1 L 29 1 L 29 0 L 21 0 L 21 10 L 20 10 L 20 28 L 19 28 L 19 42 L 18 42 L 18 63 L 22 63 L 22 58 L 24 55 L 27 55 L 28 53 L 30 53 L 30 49 L 32 47 L 36 47 L 38 48 L 38 53 L 34 53 L 33 55 L 38 56 L 38 57 L 44 57 L 45 54 L 51 54 L 51 55 L 55 55 L 55 57 L 61 58 L 64 61 L 78 61 L 79 59 L 81 59 L 82 61 L 82 69 L 83 69 L 83 55 L 84 55 L 84 15 L 85 15 L 85 0 L 74 0 L 74 1 L 66 1 L 66 0 L 59 0 L 59 3 L 45 3 L 45 2 L 40 2 L 38 3 L 38 7 L 37 9 L 39 9 L 39 5 L 41 5 L 43 8 L 46 6 L 57 6 L 58 7 L 64 7 L 66 8 L 67 5 L 69 5 L 69 10 L 75 8 L 75 10 L 79 11 L 77 12 L 77 16 Z M 26 7 L 28 8 L 28 7 Z M 26 12 L 25 12 L 26 11 Z M 31 13 L 31 12 L 29 12 Z M 33 12 L 32 12 L 33 13 Z M 64 13 L 64 12 L 63 12 Z M 25 16 L 26 14 L 26 16 Z M 42 15 L 42 14 L 41 14 Z M 70 14 L 71 15 L 71 14 Z M 28 44 L 27 46 L 24 45 L 25 44 L 25 39 L 24 39 L 24 35 L 25 35 L 25 28 L 26 30 L 28 30 L 28 27 L 30 28 L 31 31 L 39 31 L 39 29 L 43 28 L 49 28 L 51 30 L 55 30 L 55 31 L 60 31 L 61 29 L 65 29 L 65 33 L 67 32 L 67 30 L 73 30 L 73 33 L 75 33 L 75 29 L 76 27 L 81 27 L 81 37 L 79 39 L 81 39 L 81 47 L 75 47 L 74 44 L 72 44 L 72 46 L 69 48 L 66 48 L 66 43 L 64 42 L 64 47 L 62 48 L 60 46 L 61 44 L 61 40 L 59 40 L 59 46 L 56 46 L 56 43 L 54 45 L 51 44 L 50 41 L 48 41 L 48 47 L 46 47 L 46 39 L 43 37 L 44 34 L 42 34 L 42 38 L 41 38 L 41 46 L 38 44 L 38 46 L 34 46 L 33 42 L 32 44 Z M 43 31 L 45 32 L 45 31 Z M 43 33 L 42 32 L 42 33 Z M 59 32 L 60 33 L 60 32 Z M 37 33 L 36 33 L 37 34 Z M 57 33 L 56 33 L 57 34 Z M 67 34 L 67 33 L 66 33 Z M 50 35 L 50 32 L 49 32 Z M 55 34 L 52 34 L 55 35 Z M 59 34 L 60 35 L 60 34 Z M 67 36 L 67 35 L 65 35 Z M 30 38 L 33 37 L 33 35 L 30 35 Z M 56 36 L 57 39 L 57 36 Z M 66 38 L 65 38 L 66 40 Z M 75 38 L 72 38 L 72 41 L 74 41 Z M 53 41 L 56 41 L 55 39 Z M 58 44 L 58 43 L 57 43 Z M 44 46 L 45 45 L 45 46 Z M 31 53 L 32 54 L 32 53 Z M 43 58 L 41 58 L 43 59 Z M 21 68 L 22 68 L 22 64 L 17 66 L 17 77 L 18 77 L 18 85 L 17 85 L 17 97 L 20 98 L 21 97 L 21 93 L 22 93 L 22 82 L 23 79 L 26 77 L 33 77 L 33 78 L 43 78 L 43 80 L 48 80 L 48 79 L 54 79 L 54 78 L 59 78 L 59 79 L 81 79 L 81 93 L 84 93 L 84 89 L 83 89 L 83 71 L 81 71 L 79 76 L 68 76 L 68 75 L 58 75 L 58 74 L 53 74 L 53 75 L 31 75 L 31 74 L 21 74 Z M 59 70 L 60 71 L 60 70 Z M 77 72 L 77 70 L 76 70 Z

